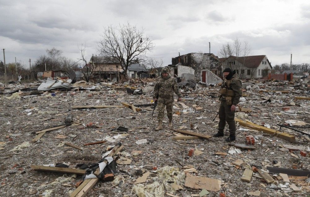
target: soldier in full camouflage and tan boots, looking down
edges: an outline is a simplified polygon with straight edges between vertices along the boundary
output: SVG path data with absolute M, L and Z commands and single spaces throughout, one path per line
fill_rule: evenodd
M 154 101 L 157 100 L 158 96 L 158 127 L 155 128 L 156 131 L 162 130 L 162 120 L 165 114 L 165 106 L 167 109 L 167 116 L 169 118 L 169 127 L 172 127 L 172 107 L 173 107 L 173 93 L 178 95 L 178 101 L 181 101 L 181 93 L 179 92 L 179 87 L 176 83 L 175 78 L 170 76 L 167 67 L 162 68 L 161 76 L 157 78 L 157 82 L 154 87 L 153 98 Z

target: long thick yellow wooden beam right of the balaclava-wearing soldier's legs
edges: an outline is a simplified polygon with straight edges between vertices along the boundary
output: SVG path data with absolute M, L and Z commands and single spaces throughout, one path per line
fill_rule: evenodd
M 251 129 L 255 129 L 257 131 L 263 131 L 263 133 L 268 133 L 270 135 L 275 135 L 275 136 L 277 136 L 277 137 L 279 137 L 281 139 L 288 140 L 289 142 L 294 142 L 295 141 L 295 135 L 291 135 L 291 134 L 288 134 L 288 133 L 285 133 L 285 132 L 281 132 L 281 131 L 276 131 L 274 129 L 269 129 L 267 127 L 254 124 L 254 123 L 252 123 L 250 121 L 247 121 L 247 120 L 244 121 L 244 120 L 235 118 L 235 121 L 239 122 L 239 125 L 241 125 L 241 126 L 244 126 L 244 127 L 247 127 L 247 128 L 251 128 Z

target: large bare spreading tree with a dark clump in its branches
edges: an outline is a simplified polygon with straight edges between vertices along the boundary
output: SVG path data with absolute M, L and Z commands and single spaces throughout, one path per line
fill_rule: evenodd
M 98 44 L 100 54 L 117 60 L 117 63 L 122 65 L 125 76 L 128 66 L 133 62 L 139 63 L 146 57 L 146 53 L 154 48 L 150 37 L 144 36 L 144 29 L 138 30 L 129 23 L 117 27 L 109 25 L 104 28 L 101 37 Z

